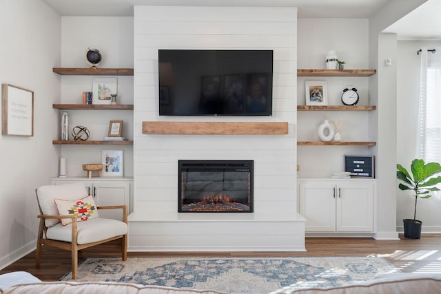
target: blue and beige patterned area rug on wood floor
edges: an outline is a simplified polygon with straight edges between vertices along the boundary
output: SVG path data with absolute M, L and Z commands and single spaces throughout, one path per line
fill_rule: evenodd
M 271 293 L 312 286 L 339 286 L 398 273 L 383 258 L 87 258 L 78 282 L 107 281 L 210 289 L 226 293 Z M 72 280 L 67 273 L 61 281 Z

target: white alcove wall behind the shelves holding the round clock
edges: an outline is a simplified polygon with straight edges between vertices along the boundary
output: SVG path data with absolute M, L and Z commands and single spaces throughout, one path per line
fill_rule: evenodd
M 324 69 L 325 53 L 335 50 L 345 61 L 347 70 L 369 69 L 367 19 L 298 19 L 298 68 Z M 354 42 L 350 36 L 357 35 Z M 375 68 L 374 68 L 375 69 Z M 328 105 L 342 105 L 341 95 L 348 85 L 356 87 L 358 105 L 375 105 L 369 99 L 369 78 L 365 77 L 298 77 L 297 104 L 305 105 L 305 81 L 327 83 Z M 342 140 L 369 141 L 367 112 L 297 112 L 298 140 L 319 140 L 317 129 L 323 120 L 341 120 Z M 370 155 L 369 147 L 300 146 L 297 160 L 302 178 L 329 178 L 333 171 L 344 171 L 345 155 Z

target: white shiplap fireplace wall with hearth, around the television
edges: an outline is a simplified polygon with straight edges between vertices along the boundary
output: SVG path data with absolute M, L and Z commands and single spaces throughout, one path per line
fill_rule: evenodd
M 134 8 L 129 251 L 304 251 L 296 195 L 297 8 Z M 159 116 L 158 49 L 274 50 L 273 116 Z M 152 135 L 143 121 L 287 122 L 285 135 Z M 178 213 L 178 160 L 254 160 L 254 213 Z

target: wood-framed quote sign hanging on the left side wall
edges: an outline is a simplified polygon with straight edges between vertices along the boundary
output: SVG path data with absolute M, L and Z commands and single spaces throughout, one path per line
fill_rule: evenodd
M 34 136 L 34 91 L 1 85 L 1 134 Z

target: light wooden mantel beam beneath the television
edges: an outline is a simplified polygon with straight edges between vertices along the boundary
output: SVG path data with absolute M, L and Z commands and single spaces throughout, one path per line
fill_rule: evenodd
M 285 135 L 288 123 L 143 121 L 143 134 Z

